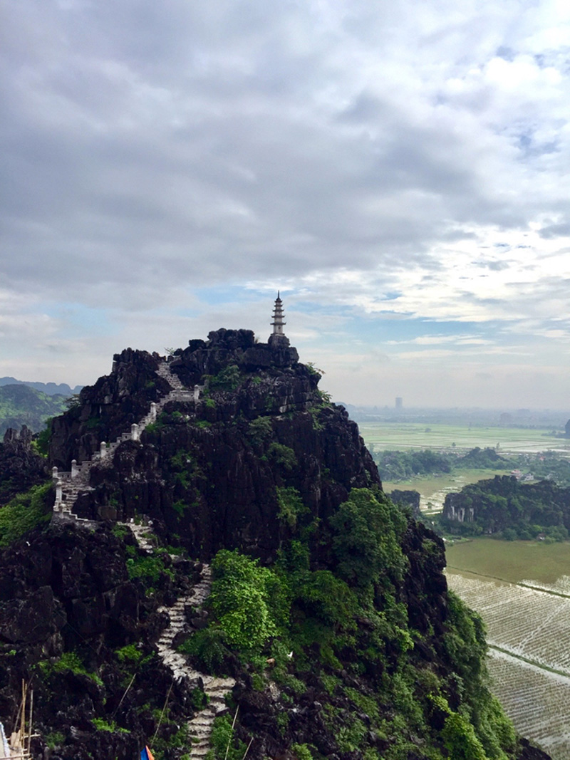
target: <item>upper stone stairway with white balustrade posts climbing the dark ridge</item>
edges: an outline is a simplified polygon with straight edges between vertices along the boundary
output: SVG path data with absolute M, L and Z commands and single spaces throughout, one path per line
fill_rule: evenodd
M 122 442 L 131 440 L 138 441 L 141 437 L 141 433 L 151 423 L 156 422 L 157 415 L 169 401 L 198 401 L 200 397 L 201 386 L 195 385 L 192 390 L 185 388 L 177 375 L 170 372 L 170 368 L 167 362 L 162 362 L 158 366 L 157 375 L 164 378 L 170 385 L 171 390 L 160 401 L 156 403 L 153 401 L 150 404 L 150 410 L 148 413 L 138 421 L 133 423 L 131 429 L 128 432 L 123 432 L 119 435 L 119 438 L 112 443 L 106 443 L 102 441 L 100 444 L 100 451 L 96 451 L 90 459 L 86 459 L 77 464 L 77 461 L 71 462 L 70 472 L 60 472 L 57 467 L 52 469 L 52 478 L 55 483 L 55 504 L 53 505 L 54 514 L 59 518 L 63 518 L 67 521 L 77 521 L 83 524 L 94 524 L 93 521 L 86 518 L 80 518 L 72 511 L 75 502 L 78 499 L 79 493 L 82 491 L 92 491 L 93 489 L 89 485 L 90 481 L 90 468 L 93 464 L 103 464 L 112 467 L 112 454 L 116 448 L 122 444 Z

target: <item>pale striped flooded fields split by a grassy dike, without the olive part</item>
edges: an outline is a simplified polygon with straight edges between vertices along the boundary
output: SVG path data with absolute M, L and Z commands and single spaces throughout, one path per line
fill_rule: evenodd
M 448 584 L 486 624 L 492 690 L 515 728 L 553 760 L 570 760 L 570 597 L 453 572 Z

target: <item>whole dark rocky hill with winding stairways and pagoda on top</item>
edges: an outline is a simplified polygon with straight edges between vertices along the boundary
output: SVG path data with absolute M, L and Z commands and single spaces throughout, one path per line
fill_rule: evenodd
M 276 314 L 267 344 L 116 355 L 43 464 L 8 436 L 36 468 L 0 508 L 8 735 L 24 679 L 45 760 L 546 758 L 487 689 L 441 540 Z

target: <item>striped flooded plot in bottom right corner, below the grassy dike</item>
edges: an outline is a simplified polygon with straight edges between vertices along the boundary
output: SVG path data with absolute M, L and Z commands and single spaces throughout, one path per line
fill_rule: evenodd
M 570 760 L 570 679 L 493 649 L 487 664 L 492 690 L 518 733 L 553 760 Z

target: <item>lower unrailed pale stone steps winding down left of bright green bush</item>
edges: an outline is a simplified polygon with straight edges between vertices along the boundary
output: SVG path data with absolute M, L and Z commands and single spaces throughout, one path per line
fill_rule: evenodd
M 153 544 L 148 540 L 149 534 L 152 534 L 150 525 L 137 525 L 127 523 L 135 536 L 138 546 L 147 553 L 152 553 Z M 173 647 L 173 641 L 176 635 L 181 632 L 186 623 L 185 608 L 187 606 L 195 607 L 198 610 L 210 594 L 212 584 L 212 572 L 209 565 L 204 565 L 201 572 L 201 580 L 192 589 L 188 596 L 180 597 L 171 607 L 159 607 L 158 612 L 166 613 L 169 616 L 169 626 L 160 634 L 157 641 L 158 656 L 163 664 L 169 668 L 176 680 L 188 679 L 188 681 L 198 681 L 201 679 L 204 694 L 207 696 L 207 706 L 201 710 L 192 720 L 188 720 L 188 736 L 192 741 L 190 758 L 204 758 L 210 751 L 210 736 L 214 718 L 222 715 L 227 711 L 225 696 L 230 692 L 236 681 L 233 678 L 217 678 L 217 676 L 207 676 L 194 670 L 186 662 L 184 655 L 180 654 Z

